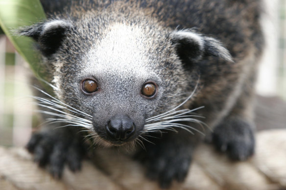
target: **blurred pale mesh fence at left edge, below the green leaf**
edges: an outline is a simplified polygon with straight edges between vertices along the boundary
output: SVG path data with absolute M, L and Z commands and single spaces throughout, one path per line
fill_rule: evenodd
M 12 44 L 0 36 L 0 145 L 23 146 L 37 115 L 33 112 L 30 84 L 24 60 Z

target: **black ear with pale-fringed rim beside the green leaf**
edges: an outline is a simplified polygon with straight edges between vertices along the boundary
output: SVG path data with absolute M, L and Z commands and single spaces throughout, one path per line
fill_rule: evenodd
M 54 54 L 61 46 L 66 31 L 71 28 L 71 23 L 62 20 L 53 20 L 37 23 L 25 27 L 20 35 L 28 36 L 38 42 L 42 54 L 46 57 Z

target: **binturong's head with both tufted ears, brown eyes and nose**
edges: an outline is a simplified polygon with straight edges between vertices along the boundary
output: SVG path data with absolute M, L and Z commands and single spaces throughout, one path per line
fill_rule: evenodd
M 214 38 L 166 28 L 145 16 L 126 19 L 89 12 L 34 24 L 21 35 L 37 42 L 52 73 L 62 105 L 58 109 L 65 107 L 67 115 L 61 121 L 88 128 L 105 145 L 134 142 L 160 128 L 189 130 L 166 119 L 190 113 L 176 110 L 184 100 L 191 101 L 199 78 L 186 65 L 206 56 L 231 61 Z M 188 121 L 187 116 L 179 118 Z

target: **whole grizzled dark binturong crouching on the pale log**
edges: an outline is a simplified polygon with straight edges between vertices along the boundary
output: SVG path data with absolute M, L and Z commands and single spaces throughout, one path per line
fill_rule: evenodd
M 135 149 L 162 188 L 182 182 L 207 139 L 232 160 L 254 153 L 262 54 L 259 0 L 42 0 L 35 40 L 53 96 L 27 148 L 60 177 L 92 147 Z M 96 176 L 95 176 L 96 178 Z

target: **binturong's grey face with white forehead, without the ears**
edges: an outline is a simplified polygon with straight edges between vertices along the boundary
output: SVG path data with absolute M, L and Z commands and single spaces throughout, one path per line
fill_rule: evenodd
M 184 91 L 179 76 L 185 73 L 172 42 L 167 34 L 150 30 L 148 36 L 146 30 L 110 24 L 75 64 L 78 72 L 68 78 L 61 71 L 55 74 L 62 76 L 56 80 L 64 92 L 59 97 L 92 116 L 93 129 L 105 144 L 133 142 L 145 130 L 145 120 L 177 106 L 178 95 Z M 71 70 L 71 64 L 64 63 L 62 68 Z M 87 81 L 97 86 L 92 93 L 84 87 Z

